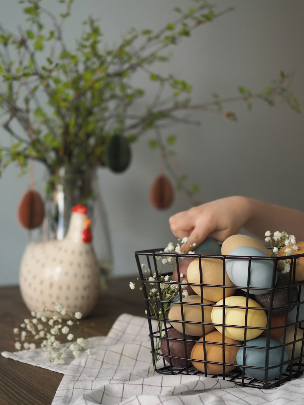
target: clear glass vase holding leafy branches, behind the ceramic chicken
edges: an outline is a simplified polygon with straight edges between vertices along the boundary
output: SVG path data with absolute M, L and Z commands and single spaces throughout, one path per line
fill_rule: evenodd
M 98 190 L 95 169 L 85 172 L 62 167 L 47 182 L 43 239 L 61 241 L 69 228 L 71 209 L 85 205 L 92 221 L 93 248 L 100 269 L 101 290 L 105 290 L 112 274 L 112 249 L 107 214 Z

